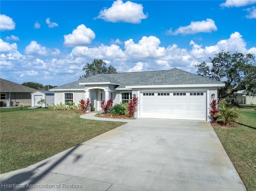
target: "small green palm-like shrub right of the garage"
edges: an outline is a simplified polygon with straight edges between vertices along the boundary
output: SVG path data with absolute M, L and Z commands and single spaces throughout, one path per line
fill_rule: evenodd
M 216 116 L 218 116 L 217 121 L 223 125 L 230 125 L 240 118 L 238 107 L 226 106 L 226 100 L 221 101 L 221 106 L 218 107 Z

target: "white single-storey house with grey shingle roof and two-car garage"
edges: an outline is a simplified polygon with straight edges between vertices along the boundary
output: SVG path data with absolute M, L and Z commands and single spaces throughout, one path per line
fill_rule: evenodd
M 100 101 L 125 103 L 139 98 L 136 118 L 209 120 L 209 107 L 217 88 L 225 84 L 174 68 L 167 71 L 99 74 L 53 88 L 54 102 L 78 104 L 90 98 L 96 110 Z

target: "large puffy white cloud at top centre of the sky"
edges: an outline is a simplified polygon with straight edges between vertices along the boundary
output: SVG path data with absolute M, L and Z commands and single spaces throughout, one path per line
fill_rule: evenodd
M 138 24 L 142 19 L 146 19 L 148 14 L 143 13 L 142 4 L 133 3 L 130 1 L 123 2 L 117 0 L 113 2 L 110 8 L 104 8 L 98 15 L 99 19 L 103 19 L 108 22 L 127 22 Z

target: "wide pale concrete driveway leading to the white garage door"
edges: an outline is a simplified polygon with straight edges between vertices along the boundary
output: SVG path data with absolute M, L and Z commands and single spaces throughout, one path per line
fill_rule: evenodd
M 143 118 L 1 175 L 1 190 L 14 183 L 33 191 L 246 191 L 210 123 Z

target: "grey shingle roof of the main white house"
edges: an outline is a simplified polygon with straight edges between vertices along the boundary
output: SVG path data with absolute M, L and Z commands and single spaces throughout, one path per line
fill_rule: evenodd
M 79 83 L 94 82 L 119 83 L 118 89 L 126 88 L 126 86 L 223 84 L 216 80 L 173 68 L 167 71 L 99 74 L 54 89 L 74 89 L 74 87 L 83 89 L 84 85 L 79 85 Z

